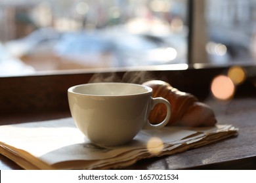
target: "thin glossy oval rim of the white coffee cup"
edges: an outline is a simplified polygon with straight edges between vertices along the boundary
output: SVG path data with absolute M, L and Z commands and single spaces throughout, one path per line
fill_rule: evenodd
M 106 95 L 106 94 L 89 94 L 89 93 L 79 93 L 79 92 L 74 92 L 75 88 L 79 88 L 82 86 L 92 86 L 92 85 L 130 85 L 130 86 L 138 86 L 140 88 L 144 88 L 145 92 L 139 92 L 139 93 L 131 93 L 131 94 L 119 94 L 119 95 Z M 152 93 L 152 88 L 149 86 L 144 86 L 142 84 L 134 84 L 134 83 L 129 83 L 129 82 L 93 82 L 93 83 L 86 83 L 86 84 L 78 84 L 75 86 L 71 86 L 68 88 L 68 93 L 74 93 L 77 95 L 86 95 L 86 96 L 95 96 L 95 97 L 123 97 L 123 96 L 134 96 L 134 95 L 144 95 L 148 93 Z

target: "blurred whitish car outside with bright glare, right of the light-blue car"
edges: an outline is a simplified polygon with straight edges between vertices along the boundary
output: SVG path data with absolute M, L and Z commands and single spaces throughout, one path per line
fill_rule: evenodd
M 177 57 L 174 48 L 147 35 L 120 34 L 112 42 L 119 67 L 167 64 Z

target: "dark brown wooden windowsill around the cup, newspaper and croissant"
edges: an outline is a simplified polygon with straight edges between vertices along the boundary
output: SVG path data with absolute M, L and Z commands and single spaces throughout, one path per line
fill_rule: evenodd
M 255 169 L 255 78 L 250 76 L 244 84 L 237 86 L 234 99 L 225 103 L 219 102 L 211 96 L 210 84 L 213 77 L 224 75 L 226 69 L 228 68 L 143 71 L 148 77 L 135 82 L 140 83 L 148 79 L 165 80 L 183 92 L 196 95 L 213 108 L 219 124 L 232 124 L 238 127 L 239 135 L 180 154 L 144 159 L 126 169 Z M 140 72 L 120 71 L 115 75 L 119 78 L 124 78 L 126 75 L 125 77 L 129 78 L 138 73 Z M 109 76 L 110 73 L 103 75 Z M 0 78 L 0 125 L 70 117 L 68 88 L 89 82 L 93 76 L 95 76 L 93 73 L 79 72 L 68 75 Z M 0 169 L 20 169 L 20 167 L 1 155 Z

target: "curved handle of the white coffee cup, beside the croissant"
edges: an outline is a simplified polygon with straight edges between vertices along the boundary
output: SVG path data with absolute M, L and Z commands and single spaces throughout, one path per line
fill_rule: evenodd
M 150 121 L 148 120 L 148 122 L 144 126 L 144 129 L 160 129 L 161 127 L 164 127 L 165 125 L 167 125 L 167 123 L 169 122 L 169 120 L 171 118 L 171 104 L 169 103 L 169 101 L 167 101 L 167 99 L 164 99 L 162 97 L 152 98 L 151 110 L 158 103 L 163 103 L 167 107 L 167 114 L 165 116 L 165 119 L 160 124 L 151 124 Z M 148 112 L 148 114 L 149 114 L 149 112 Z

